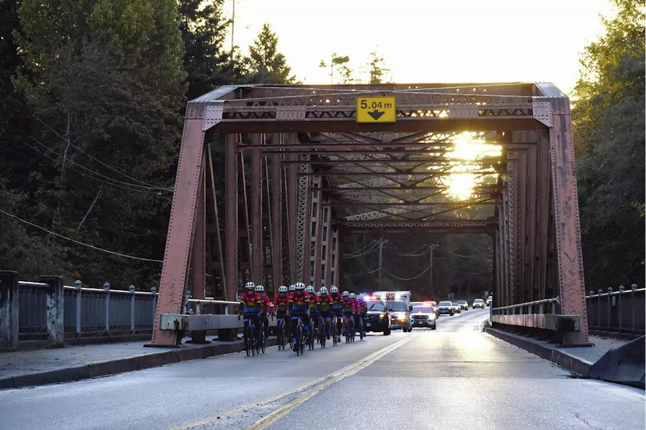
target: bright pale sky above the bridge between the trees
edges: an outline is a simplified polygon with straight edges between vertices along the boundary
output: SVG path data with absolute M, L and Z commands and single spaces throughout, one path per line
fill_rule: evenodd
M 382 54 L 397 83 L 550 81 L 569 92 L 579 53 L 603 28 L 610 0 L 226 0 L 246 52 L 264 23 L 304 83 L 333 52 L 359 70 Z M 229 39 L 230 43 L 230 39 Z M 360 76 L 363 79 L 364 76 Z

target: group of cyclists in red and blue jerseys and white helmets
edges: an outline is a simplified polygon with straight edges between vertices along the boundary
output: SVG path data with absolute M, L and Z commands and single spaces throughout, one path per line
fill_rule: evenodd
M 326 340 L 332 338 L 336 345 L 343 334 L 346 342 L 353 342 L 357 331 L 363 339 L 367 312 L 368 304 L 361 294 L 339 292 L 334 285 L 329 291 L 321 287 L 316 292 L 312 285 L 306 287 L 302 282 L 289 287 L 280 285 L 272 304 L 262 285 L 247 282 L 240 298 L 238 318 L 244 316 L 247 354 L 249 349 L 259 347 L 264 351 L 264 340 L 269 337 L 269 316 L 276 317 L 278 347 L 284 348 L 289 340 L 291 349 L 302 354 L 304 345 L 313 349 L 315 340 L 325 347 Z M 254 347 L 256 340 L 260 346 Z

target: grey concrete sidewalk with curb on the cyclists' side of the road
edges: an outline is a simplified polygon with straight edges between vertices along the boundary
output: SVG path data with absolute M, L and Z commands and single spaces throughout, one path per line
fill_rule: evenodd
M 0 353 L 0 389 L 52 384 L 148 369 L 244 350 L 242 340 L 186 343 L 180 348 L 146 348 L 145 341 L 74 345 Z M 275 338 L 267 340 L 273 345 Z

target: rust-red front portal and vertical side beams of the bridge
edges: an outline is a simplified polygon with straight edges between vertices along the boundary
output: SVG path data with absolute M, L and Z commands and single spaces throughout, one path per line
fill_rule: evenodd
M 355 101 L 358 96 L 395 96 L 397 121 L 357 123 Z M 508 133 L 506 143 L 510 144 L 506 148 L 506 183 L 496 210 L 498 220 L 494 232 L 497 304 L 518 303 L 517 300 L 524 298 L 527 291 L 530 291 L 530 297 L 535 290 L 539 296 L 544 296 L 547 294 L 544 284 L 552 278 L 554 294 L 559 298 L 559 313 L 579 318 L 578 331 L 563 334 L 563 343 L 588 344 L 569 100 L 548 83 L 466 83 L 224 86 L 189 101 L 152 345 L 170 346 L 178 342 L 174 331 L 160 329 L 160 318 L 162 314 L 176 314 L 182 310 L 192 259 L 193 297 L 201 298 L 204 294 L 203 236 L 206 229 L 203 208 L 205 196 L 209 194 L 209 183 L 210 194 L 215 194 L 213 174 L 210 178 L 204 174 L 206 165 L 211 169 L 213 166 L 210 152 L 205 152 L 205 136 L 224 136 L 225 245 L 220 245 L 220 248 L 225 251 L 220 254 L 220 261 L 224 253 L 224 298 L 235 300 L 240 281 L 238 255 L 241 229 L 238 211 L 242 208 L 247 217 L 249 211 L 245 181 L 242 182 L 244 205 L 240 201 L 238 185 L 238 177 L 245 172 L 244 159 L 242 169 L 238 163 L 242 151 L 251 151 L 252 154 L 251 217 L 247 222 L 247 234 L 242 235 L 249 242 L 251 276 L 260 276 L 262 279 L 260 272 L 264 270 L 264 263 L 256 260 L 264 256 L 264 252 L 258 252 L 259 247 L 264 247 L 260 172 L 262 157 L 270 156 L 273 157 L 272 171 L 280 171 L 282 178 L 276 179 L 273 175 L 274 194 L 269 199 L 273 203 L 270 230 L 274 236 L 271 240 L 271 248 L 274 249 L 274 285 L 282 278 L 282 268 L 278 267 L 280 263 L 276 264 L 276 249 L 280 248 L 278 236 L 281 232 L 278 225 L 282 225 L 283 212 L 286 213 L 289 229 L 291 279 L 304 279 L 304 276 L 312 273 L 310 264 L 324 258 L 324 261 L 330 261 L 329 267 L 317 267 L 313 272 L 318 279 L 310 279 L 310 282 L 321 282 L 323 276 L 326 280 L 338 282 L 340 240 L 339 227 L 332 220 L 334 202 L 324 198 L 321 190 L 314 193 L 309 191 L 313 181 L 321 189 L 329 187 L 324 173 L 311 170 L 311 151 L 333 151 L 335 146 L 330 143 L 302 143 L 297 133 L 424 134 L 480 130 Z M 243 141 L 242 136 L 247 134 L 251 134 L 251 143 Z M 272 139 L 271 145 L 266 141 L 269 134 L 278 136 Z M 393 145 L 405 146 L 405 142 L 361 142 L 359 139 L 352 145 L 339 144 L 336 147 L 357 148 L 362 143 L 386 145 L 389 148 Z M 283 160 L 286 162 L 281 164 Z M 313 194 L 315 199 L 312 198 Z M 276 205 L 276 202 L 280 202 L 280 205 Z M 322 210 L 322 207 L 327 210 Z M 314 214 L 316 220 L 312 220 L 310 214 Z M 331 232 L 328 237 L 331 237 L 332 246 L 329 246 L 329 240 L 322 240 L 324 228 L 328 230 L 328 235 Z M 311 229 L 315 229 L 314 234 L 311 234 Z M 221 243 L 219 229 L 217 234 L 218 243 Z M 325 251 L 322 249 L 323 243 L 327 245 Z M 313 252 L 311 258 L 310 251 Z M 281 251 L 280 256 L 282 254 Z M 554 260 L 552 273 L 550 259 Z M 262 261 L 266 261 L 266 258 Z M 492 320 L 496 322 L 495 315 Z M 514 316 L 505 315 L 504 320 L 514 320 Z

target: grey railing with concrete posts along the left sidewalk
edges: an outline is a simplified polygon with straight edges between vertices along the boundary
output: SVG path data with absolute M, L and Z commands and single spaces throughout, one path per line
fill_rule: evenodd
M 155 319 L 158 292 L 87 288 L 81 281 L 63 285 L 60 276 L 41 276 L 39 282 L 17 279 L 13 271 L 0 271 L 0 350 L 16 349 L 19 340 L 47 340 L 50 347 L 65 339 L 149 334 Z M 210 298 L 198 300 L 187 292 L 183 312 L 229 314 L 238 302 Z M 234 313 L 231 312 L 231 313 Z

